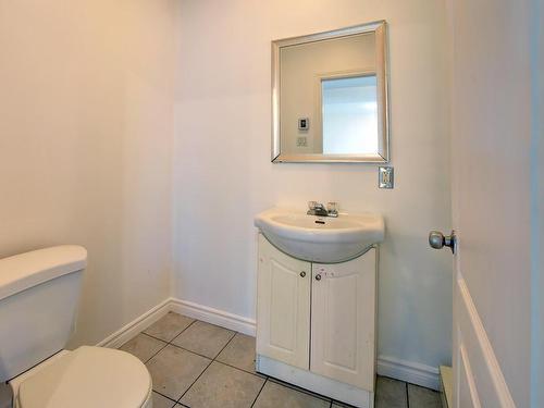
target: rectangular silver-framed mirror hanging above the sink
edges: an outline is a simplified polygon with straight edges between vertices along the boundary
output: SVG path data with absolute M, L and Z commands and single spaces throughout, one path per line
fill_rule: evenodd
M 272 42 L 272 161 L 388 161 L 385 22 Z

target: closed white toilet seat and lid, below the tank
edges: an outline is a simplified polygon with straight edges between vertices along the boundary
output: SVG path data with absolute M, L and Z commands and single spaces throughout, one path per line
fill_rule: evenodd
M 147 368 L 120 350 L 82 346 L 25 379 L 20 408 L 146 408 L 152 384 Z

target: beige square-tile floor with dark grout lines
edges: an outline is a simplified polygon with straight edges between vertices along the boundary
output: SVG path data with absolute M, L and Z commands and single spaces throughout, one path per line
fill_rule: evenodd
M 146 363 L 153 408 L 339 408 L 345 405 L 255 372 L 255 338 L 173 312 L 121 349 Z M 379 376 L 376 408 L 438 408 L 438 394 Z

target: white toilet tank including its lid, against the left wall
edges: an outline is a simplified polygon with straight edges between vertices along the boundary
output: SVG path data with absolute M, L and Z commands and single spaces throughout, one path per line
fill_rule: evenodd
M 76 245 L 0 259 L 0 381 L 64 348 L 86 263 L 87 250 Z

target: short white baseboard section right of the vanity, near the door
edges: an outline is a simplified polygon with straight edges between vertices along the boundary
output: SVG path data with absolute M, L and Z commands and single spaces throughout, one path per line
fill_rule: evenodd
M 376 371 L 380 375 L 421 385 L 431 390 L 440 388 L 440 372 L 437 367 L 420 362 L 401 360 L 390 356 L 379 356 Z

